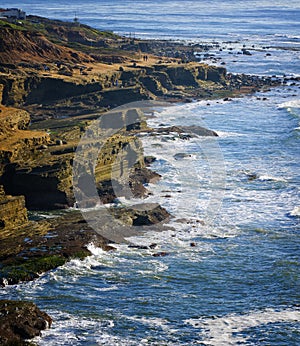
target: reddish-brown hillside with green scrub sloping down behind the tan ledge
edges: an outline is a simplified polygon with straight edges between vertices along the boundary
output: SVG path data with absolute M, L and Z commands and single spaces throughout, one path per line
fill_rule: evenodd
M 78 22 L 38 16 L 27 16 L 26 20 L 14 23 L 0 20 L 0 46 L 0 63 L 22 63 L 23 67 L 35 66 L 41 69 L 42 64 L 53 62 L 100 62 L 109 69 L 111 64 L 141 60 L 144 54 L 194 59 L 191 47 L 178 42 L 133 39 Z M 142 64 L 150 63 L 151 58 L 142 61 Z

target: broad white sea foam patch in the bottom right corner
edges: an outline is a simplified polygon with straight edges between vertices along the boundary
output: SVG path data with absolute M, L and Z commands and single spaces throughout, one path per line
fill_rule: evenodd
M 248 314 L 230 314 L 223 317 L 189 319 L 185 323 L 203 331 L 200 336 L 204 338 L 202 344 L 210 346 L 233 346 L 244 343 L 245 336 L 236 335 L 248 328 L 277 322 L 299 322 L 300 311 L 286 309 L 276 311 L 266 309 Z M 233 335 L 235 334 L 235 335 Z

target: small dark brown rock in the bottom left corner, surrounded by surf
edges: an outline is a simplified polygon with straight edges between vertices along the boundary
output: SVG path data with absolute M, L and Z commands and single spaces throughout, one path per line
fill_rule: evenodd
M 41 331 L 50 328 L 52 319 L 34 303 L 0 300 L 0 345 L 28 345 Z

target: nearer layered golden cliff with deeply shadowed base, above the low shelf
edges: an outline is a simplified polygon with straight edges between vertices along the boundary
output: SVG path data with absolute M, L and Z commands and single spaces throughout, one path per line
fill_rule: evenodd
M 72 162 L 82 135 L 82 125 L 61 130 L 61 138 L 67 138 L 66 141 L 57 139 L 59 134 L 53 137 L 41 131 L 21 130 L 28 125 L 29 114 L 14 108 L 2 109 L 0 114 L 6 126 L 0 136 L 0 182 L 5 191 L 10 195 L 25 196 L 29 209 L 72 207 L 75 203 Z M 141 143 L 131 131 L 146 127 L 145 119 L 133 110 L 103 114 L 100 127 L 94 133 L 95 140 L 85 144 L 83 152 L 86 157 L 82 167 L 85 176 L 82 179 L 89 176 L 95 179 L 103 203 L 116 197 L 112 180 L 118 180 L 119 185 L 124 180 L 126 183 L 129 181 L 136 196 L 145 192 L 143 182 L 129 176 L 132 169 L 145 169 Z M 100 150 L 98 140 L 110 130 L 116 133 L 105 139 Z M 95 150 L 99 152 L 94 171 L 89 156 Z

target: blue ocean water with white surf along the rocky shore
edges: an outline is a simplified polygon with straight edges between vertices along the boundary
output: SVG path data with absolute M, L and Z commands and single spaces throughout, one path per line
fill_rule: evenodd
M 222 50 L 214 45 L 205 61 L 224 62 L 230 72 L 300 74 L 298 1 L 14 6 L 58 19 L 76 12 L 82 22 L 122 34 L 218 42 Z M 238 54 L 243 45 L 251 56 Z M 53 317 L 38 345 L 299 345 L 299 82 L 153 115 L 150 125 L 200 125 L 219 134 L 141 137 L 163 176 L 148 186 L 149 201 L 175 218 L 172 230 L 132 241 L 157 248 L 104 252 L 90 244 L 93 255 L 84 261 L 0 296 L 34 301 Z M 159 251 L 168 256 L 152 256 Z

